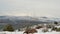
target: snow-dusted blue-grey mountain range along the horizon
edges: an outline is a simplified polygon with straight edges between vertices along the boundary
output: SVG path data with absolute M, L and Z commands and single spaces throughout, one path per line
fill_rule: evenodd
M 52 22 L 60 21 L 60 18 L 49 18 L 49 17 L 30 17 L 30 16 L 0 16 L 0 23 L 24 23 L 24 22 Z

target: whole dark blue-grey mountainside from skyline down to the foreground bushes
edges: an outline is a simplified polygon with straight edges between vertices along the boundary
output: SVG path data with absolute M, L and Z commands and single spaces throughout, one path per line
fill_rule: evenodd
M 0 16 L 0 25 L 12 24 L 15 28 L 60 21 L 60 18 L 30 16 Z

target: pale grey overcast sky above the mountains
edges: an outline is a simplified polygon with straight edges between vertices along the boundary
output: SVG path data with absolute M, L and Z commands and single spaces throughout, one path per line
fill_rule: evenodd
M 0 0 L 0 15 L 60 17 L 60 0 Z

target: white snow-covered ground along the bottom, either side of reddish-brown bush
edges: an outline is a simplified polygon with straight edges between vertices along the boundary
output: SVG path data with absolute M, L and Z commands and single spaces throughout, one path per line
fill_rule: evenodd
M 37 30 L 38 32 L 37 33 L 34 33 L 34 34 L 60 34 L 60 32 L 56 32 L 56 31 L 51 31 L 51 32 L 42 32 L 42 29 L 38 29 Z M 0 34 L 23 34 L 23 31 L 16 31 L 16 32 L 0 32 Z

